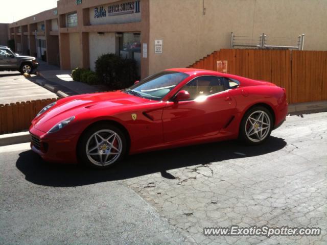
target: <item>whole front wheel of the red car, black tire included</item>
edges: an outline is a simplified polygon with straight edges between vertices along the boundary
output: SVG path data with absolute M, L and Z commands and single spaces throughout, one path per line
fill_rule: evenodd
M 78 144 L 78 159 L 94 168 L 108 168 L 118 163 L 126 153 L 126 137 L 113 126 L 100 124 L 86 131 Z

